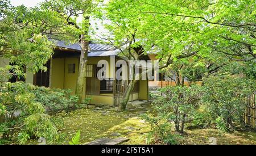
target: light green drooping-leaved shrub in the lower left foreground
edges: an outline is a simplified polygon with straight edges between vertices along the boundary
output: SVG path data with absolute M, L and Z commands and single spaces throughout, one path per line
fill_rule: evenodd
M 35 86 L 24 82 L 0 83 L 0 109 L 3 121 L 0 135 L 3 140 L 26 144 L 28 139 L 58 138 L 57 129 L 46 114 L 44 106 L 35 100 Z

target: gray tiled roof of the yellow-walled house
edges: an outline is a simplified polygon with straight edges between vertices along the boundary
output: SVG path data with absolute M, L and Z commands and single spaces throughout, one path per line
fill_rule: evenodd
M 52 40 L 52 39 L 49 39 L 49 40 L 53 41 L 57 47 L 81 51 L 80 44 L 67 44 L 64 41 Z M 89 54 L 88 54 L 89 57 L 117 56 L 120 53 L 118 49 L 116 49 L 112 45 L 107 45 L 107 44 L 90 43 L 89 47 L 90 47 Z

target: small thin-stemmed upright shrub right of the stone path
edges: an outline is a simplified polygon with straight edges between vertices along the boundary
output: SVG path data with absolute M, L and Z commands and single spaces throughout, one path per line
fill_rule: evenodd
M 175 124 L 179 133 L 184 132 L 184 125 L 191 120 L 196 107 L 199 106 L 202 95 L 201 87 L 198 85 L 172 86 L 160 89 L 163 96 L 154 100 L 153 108 L 159 117 Z

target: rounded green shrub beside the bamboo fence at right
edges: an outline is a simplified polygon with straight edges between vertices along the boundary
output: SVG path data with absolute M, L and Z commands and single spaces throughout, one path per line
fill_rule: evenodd
M 238 75 L 211 76 L 204 79 L 203 101 L 218 129 L 234 130 L 236 125 L 243 124 L 245 99 L 256 90 L 255 84 L 255 81 Z

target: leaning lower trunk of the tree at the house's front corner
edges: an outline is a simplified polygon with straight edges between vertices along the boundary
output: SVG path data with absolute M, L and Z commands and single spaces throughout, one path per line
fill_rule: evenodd
M 131 93 L 133 92 L 133 88 L 137 80 L 131 80 L 129 83 L 128 87 L 126 88 L 125 93 L 123 94 L 123 98 L 119 104 L 119 111 L 125 111 L 127 103 L 129 102 L 129 98 Z

